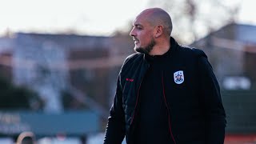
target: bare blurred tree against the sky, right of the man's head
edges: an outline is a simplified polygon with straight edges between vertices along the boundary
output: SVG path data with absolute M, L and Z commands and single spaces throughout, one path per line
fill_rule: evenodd
M 150 0 L 150 6 L 160 6 L 170 13 L 173 35 L 189 44 L 221 26 L 235 22 L 241 0 Z

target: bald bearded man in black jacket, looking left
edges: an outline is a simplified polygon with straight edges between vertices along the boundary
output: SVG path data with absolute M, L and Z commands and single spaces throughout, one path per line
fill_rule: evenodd
M 222 144 L 226 114 L 206 54 L 170 36 L 160 8 L 138 14 L 130 36 L 136 53 L 118 74 L 105 144 Z

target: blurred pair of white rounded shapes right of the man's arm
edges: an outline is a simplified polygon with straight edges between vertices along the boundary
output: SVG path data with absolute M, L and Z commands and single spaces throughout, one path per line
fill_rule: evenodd
M 251 86 L 250 79 L 242 76 L 226 77 L 222 84 L 226 90 L 250 90 Z

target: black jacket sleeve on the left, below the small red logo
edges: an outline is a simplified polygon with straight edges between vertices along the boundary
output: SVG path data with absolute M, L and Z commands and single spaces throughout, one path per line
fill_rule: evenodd
M 110 108 L 104 144 L 121 144 L 125 137 L 125 120 L 122 108 L 122 90 L 120 84 L 120 75 L 118 77 L 117 89 L 114 96 L 114 103 Z

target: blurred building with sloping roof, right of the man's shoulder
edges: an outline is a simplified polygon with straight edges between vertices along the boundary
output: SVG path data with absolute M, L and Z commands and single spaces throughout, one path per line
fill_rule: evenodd
M 256 90 L 256 26 L 231 23 L 191 44 L 208 55 L 226 90 Z

